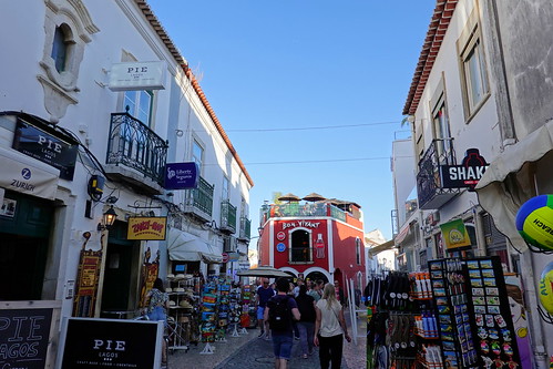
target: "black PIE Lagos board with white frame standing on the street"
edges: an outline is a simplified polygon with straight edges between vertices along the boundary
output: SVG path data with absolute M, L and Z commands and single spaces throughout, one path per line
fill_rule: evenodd
M 66 318 L 57 368 L 158 368 L 163 322 Z

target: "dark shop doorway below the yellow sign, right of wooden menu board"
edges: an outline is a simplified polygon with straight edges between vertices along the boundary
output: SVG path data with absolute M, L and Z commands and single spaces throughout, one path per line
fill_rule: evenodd
M 115 222 L 110 229 L 105 254 L 101 317 L 126 316 L 137 307 L 140 243 L 126 239 L 126 223 Z

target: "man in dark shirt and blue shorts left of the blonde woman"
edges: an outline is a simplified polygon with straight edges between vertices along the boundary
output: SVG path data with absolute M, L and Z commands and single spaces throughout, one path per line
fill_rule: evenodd
M 276 311 L 279 310 L 278 304 L 286 301 L 287 311 L 291 315 L 289 317 L 289 325 L 285 330 L 276 330 L 272 328 L 273 335 L 273 352 L 275 353 L 275 368 L 286 369 L 288 368 L 288 360 L 291 355 L 291 345 L 294 342 L 294 328 L 291 325 L 293 320 L 299 320 L 300 314 L 298 310 L 298 305 L 294 299 L 294 296 L 289 296 L 289 283 L 287 278 L 280 277 L 277 279 L 277 290 L 278 294 L 270 298 L 265 308 L 265 320 L 269 320 L 270 309 L 274 308 Z

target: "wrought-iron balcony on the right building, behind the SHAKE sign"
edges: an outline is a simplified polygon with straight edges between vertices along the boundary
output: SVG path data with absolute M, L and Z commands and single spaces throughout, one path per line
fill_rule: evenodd
M 455 165 L 453 139 L 433 140 L 419 161 L 417 193 L 421 209 L 440 208 L 459 194 L 458 188 L 443 188 L 440 165 Z

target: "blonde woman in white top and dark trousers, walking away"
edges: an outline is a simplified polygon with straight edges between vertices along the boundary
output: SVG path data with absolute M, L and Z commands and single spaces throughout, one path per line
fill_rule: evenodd
M 322 291 L 322 298 L 317 301 L 317 320 L 315 321 L 315 346 L 319 346 L 320 368 L 337 369 L 341 365 L 341 350 L 344 336 L 348 342 L 351 337 L 348 334 L 346 319 L 341 304 L 336 299 L 334 285 L 327 284 Z

